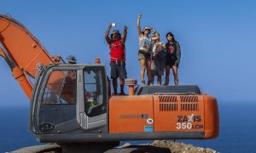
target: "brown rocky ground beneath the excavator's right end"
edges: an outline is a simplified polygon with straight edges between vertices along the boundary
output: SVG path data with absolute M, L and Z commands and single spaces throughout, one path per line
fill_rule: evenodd
M 169 153 L 217 153 L 216 150 L 210 148 L 197 147 L 192 144 L 183 144 L 172 141 L 155 140 L 152 144 L 140 144 L 142 149 L 133 150 L 132 152 L 169 152 Z M 148 149 L 143 148 L 143 146 L 152 146 Z M 124 144 L 119 146 L 119 148 L 129 148 L 133 147 L 131 144 Z

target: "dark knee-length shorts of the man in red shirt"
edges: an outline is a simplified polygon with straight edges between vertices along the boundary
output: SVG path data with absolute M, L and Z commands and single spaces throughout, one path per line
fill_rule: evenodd
M 127 73 L 125 69 L 125 62 L 110 62 L 111 67 L 111 79 L 117 79 L 118 77 L 121 79 L 127 78 Z

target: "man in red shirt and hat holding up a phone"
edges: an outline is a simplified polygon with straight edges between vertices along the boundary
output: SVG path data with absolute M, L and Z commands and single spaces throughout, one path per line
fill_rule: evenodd
M 117 78 L 120 82 L 120 95 L 124 95 L 125 78 L 127 73 L 125 70 L 125 40 L 127 36 L 127 26 L 125 26 L 123 37 L 118 30 L 113 30 L 110 37 L 109 31 L 112 24 L 109 24 L 108 30 L 105 33 L 106 41 L 108 42 L 110 49 L 110 66 L 111 66 L 111 79 L 113 80 L 113 91 L 117 95 Z

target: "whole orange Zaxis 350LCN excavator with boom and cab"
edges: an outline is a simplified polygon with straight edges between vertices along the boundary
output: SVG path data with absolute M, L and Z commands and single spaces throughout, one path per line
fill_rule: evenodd
M 109 94 L 106 68 L 66 64 L 17 20 L 0 14 L 0 55 L 30 99 L 29 130 L 42 143 L 214 139 L 218 103 L 195 85 L 137 86 Z M 34 79 L 34 83 L 30 80 Z

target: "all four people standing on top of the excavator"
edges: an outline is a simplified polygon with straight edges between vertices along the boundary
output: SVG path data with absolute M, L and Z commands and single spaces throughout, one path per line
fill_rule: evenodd
M 142 85 L 154 85 L 154 76 L 157 76 L 158 85 L 168 85 L 170 69 L 174 77 L 175 85 L 178 85 L 177 68 L 181 58 L 181 49 L 179 43 L 175 40 L 172 32 L 166 33 L 167 42 L 160 42 L 160 34 L 154 28 L 143 27 L 141 30 L 140 20 L 142 14 L 137 17 L 137 32 L 139 37 L 138 60 L 140 62 L 140 77 Z M 127 36 L 127 26 L 124 27 L 123 36 L 118 30 L 113 30 L 110 37 L 109 31 L 114 26 L 110 23 L 105 33 L 106 41 L 110 49 L 111 79 L 113 80 L 113 94 L 117 95 L 119 78 L 120 95 L 124 95 L 125 78 L 127 72 L 125 69 L 125 40 Z M 151 37 L 149 34 L 153 32 Z M 162 76 L 166 69 L 166 82 L 162 84 Z M 148 82 L 145 82 L 145 71 L 147 70 Z

